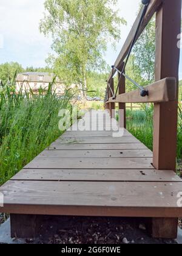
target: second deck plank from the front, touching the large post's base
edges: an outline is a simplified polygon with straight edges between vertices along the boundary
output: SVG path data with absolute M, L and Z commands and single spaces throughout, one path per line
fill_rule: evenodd
M 181 182 L 174 171 L 155 169 L 22 169 L 12 180 Z

